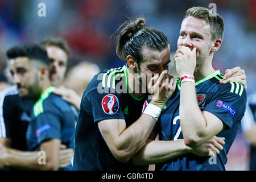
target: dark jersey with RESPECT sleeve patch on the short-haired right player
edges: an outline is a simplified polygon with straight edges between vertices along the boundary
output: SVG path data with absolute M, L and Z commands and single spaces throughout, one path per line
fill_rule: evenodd
M 225 170 L 226 155 L 236 138 L 238 125 L 245 113 L 246 91 L 237 82 L 220 84 L 222 77 L 220 71 L 216 71 L 196 82 L 196 94 L 201 111 L 208 111 L 225 123 L 225 130 L 217 134 L 217 137 L 225 137 L 224 150 L 216 158 L 199 157 L 192 153 L 184 154 L 156 164 L 156 170 Z M 160 115 L 158 123 L 160 140 L 183 139 L 179 120 L 179 89 L 180 80 L 177 82 L 175 93 Z

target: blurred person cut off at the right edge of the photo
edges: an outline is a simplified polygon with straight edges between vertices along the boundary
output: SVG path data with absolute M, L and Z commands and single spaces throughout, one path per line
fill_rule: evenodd
M 256 93 L 247 98 L 245 116 L 241 129 L 250 144 L 249 170 L 256 171 Z

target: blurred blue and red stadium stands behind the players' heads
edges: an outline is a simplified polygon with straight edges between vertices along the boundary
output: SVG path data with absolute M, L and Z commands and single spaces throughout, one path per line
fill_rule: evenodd
M 46 4 L 46 17 L 38 16 L 38 4 Z M 129 17 L 143 15 L 147 26 L 163 30 L 176 51 L 185 11 L 192 6 L 216 3 L 225 20 L 224 42 L 213 64 L 222 73 L 240 66 L 247 75 L 247 94 L 256 90 L 256 1 L 211 0 L 0 0 L 0 73 L 6 50 L 22 42 L 39 42 L 47 35 L 63 36 L 71 47 L 69 63 L 92 61 L 101 69 L 123 65 L 115 55 L 114 34 Z M 1 77 L 1 76 L 0 76 Z M 228 155 L 228 170 L 246 170 L 248 150 L 240 131 Z

